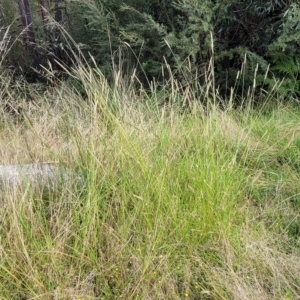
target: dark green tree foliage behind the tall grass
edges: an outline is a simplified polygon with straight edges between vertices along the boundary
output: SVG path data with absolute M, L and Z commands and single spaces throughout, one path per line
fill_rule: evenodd
M 285 78 L 281 92 L 299 92 L 296 0 L 52 0 L 47 1 L 44 16 L 42 2 L 31 0 L 44 64 L 51 58 L 67 62 L 69 44 L 58 34 L 60 23 L 108 78 L 114 72 L 126 76 L 135 70 L 148 84 L 153 78 L 166 80 L 172 70 L 182 84 L 195 80 L 195 74 L 203 83 L 213 56 L 221 93 L 232 86 L 237 91 L 250 87 L 254 76 L 261 87 L 272 86 L 275 77 Z M 8 0 L 1 0 L 0 12 L 2 26 L 16 17 L 15 5 Z M 18 32 L 18 26 L 14 30 Z M 21 51 L 18 44 L 10 55 L 15 65 L 22 61 Z M 241 70 L 239 86 L 236 78 Z

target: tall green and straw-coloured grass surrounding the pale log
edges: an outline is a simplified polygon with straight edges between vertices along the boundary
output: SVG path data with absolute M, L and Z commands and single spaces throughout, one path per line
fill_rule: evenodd
M 1 164 L 55 161 L 87 187 L 2 196 L 0 299 L 300 298 L 297 108 L 204 109 L 189 91 L 182 112 L 76 76 L 83 96 L 5 86 L 22 112 L 1 112 Z

